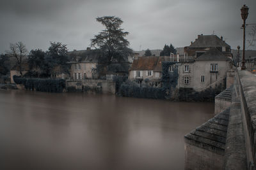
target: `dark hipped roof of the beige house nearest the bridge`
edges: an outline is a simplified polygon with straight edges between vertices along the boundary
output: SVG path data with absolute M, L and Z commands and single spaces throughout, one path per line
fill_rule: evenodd
M 230 60 L 230 59 L 228 59 L 228 57 L 226 57 L 217 48 L 211 48 L 209 51 L 200 55 L 200 57 L 197 57 L 196 60 L 200 61 L 200 60 Z

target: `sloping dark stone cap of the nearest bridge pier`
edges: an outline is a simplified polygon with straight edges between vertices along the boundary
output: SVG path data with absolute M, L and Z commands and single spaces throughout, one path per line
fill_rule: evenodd
M 227 110 L 222 111 L 208 122 L 186 134 L 186 143 L 224 155 L 229 111 L 230 108 L 227 108 Z

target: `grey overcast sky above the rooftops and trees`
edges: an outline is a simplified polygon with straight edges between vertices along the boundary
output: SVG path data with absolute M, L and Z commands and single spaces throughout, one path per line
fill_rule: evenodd
M 104 28 L 95 18 L 104 15 L 122 18 L 133 50 L 188 46 L 213 31 L 236 48 L 243 42 L 243 4 L 250 8 L 246 23 L 256 24 L 255 0 L 1 0 L 0 53 L 17 41 L 28 50 L 47 50 L 50 41 L 86 49 Z

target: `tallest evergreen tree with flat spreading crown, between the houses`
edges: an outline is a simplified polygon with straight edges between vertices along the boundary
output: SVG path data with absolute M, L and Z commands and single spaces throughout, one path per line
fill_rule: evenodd
M 116 71 L 113 63 L 117 63 L 118 67 L 125 68 L 128 73 L 128 65 L 125 66 L 125 62 L 132 50 L 129 48 L 129 41 L 125 39 L 129 32 L 121 28 L 123 21 L 115 16 L 98 17 L 96 20 L 106 27 L 91 39 L 91 46 L 99 47 L 101 51 L 97 71 L 100 74 L 104 74 L 106 69 Z

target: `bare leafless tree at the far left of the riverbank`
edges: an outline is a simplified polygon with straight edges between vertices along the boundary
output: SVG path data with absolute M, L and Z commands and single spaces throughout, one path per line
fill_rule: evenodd
M 10 57 L 14 57 L 16 60 L 16 65 L 19 67 L 20 75 L 22 76 L 22 62 L 24 57 L 28 55 L 28 50 L 22 42 L 11 43 L 10 51 L 7 52 Z

